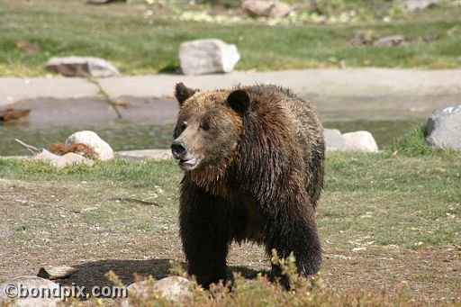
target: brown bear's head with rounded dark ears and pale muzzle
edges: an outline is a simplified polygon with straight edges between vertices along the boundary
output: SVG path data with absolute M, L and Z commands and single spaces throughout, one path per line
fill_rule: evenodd
M 243 89 L 203 93 L 179 83 L 175 95 L 179 113 L 171 151 L 179 167 L 203 175 L 222 174 L 239 150 L 248 93 Z

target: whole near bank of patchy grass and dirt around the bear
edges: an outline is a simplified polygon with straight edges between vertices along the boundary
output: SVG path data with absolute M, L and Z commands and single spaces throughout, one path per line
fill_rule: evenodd
M 230 252 L 233 291 L 195 289 L 192 302 L 461 302 L 461 157 L 421 152 L 421 140 L 417 129 L 378 154 L 328 154 L 317 216 L 325 261 L 313 284 L 298 281 L 285 292 L 268 283 L 258 276 L 269 268 L 264 251 L 243 244 Z M 0 233 L 8 238 L 0 240 L 0 280 L 50 264 L 77 266 L 80 273 L 62 282 L 86 286 L 109 283 L 109 270 L 124 284 L 134 272 L 167 275 L 168 259 L 183 261 L 176 221 L 181 176 L 172 161 L 113 160 L 56 171 L 40 162 L 0 159 Z

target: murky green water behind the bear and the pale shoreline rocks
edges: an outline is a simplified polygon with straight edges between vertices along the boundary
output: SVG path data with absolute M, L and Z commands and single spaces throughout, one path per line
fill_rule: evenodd
M 409 131 L 416 120 L 398 121 L 329 121 L 325 128 L 341 132 L 370 131 L 380 149 L 392 144 L 395 137 Z M 106 140 L 114 150 L 168 149 L 172 140 L 173 125 L 134 124 L 131 122 L 106 123 L 97 126 L 69 125 L 37 127 L 15 123 L 0 123 L 0 156 L 26 155 L 29 152 L 14 139 L 23 140 L 37 148 L 49 148 L 53 143 L 64 142 L 75 131 L 92 130 Z

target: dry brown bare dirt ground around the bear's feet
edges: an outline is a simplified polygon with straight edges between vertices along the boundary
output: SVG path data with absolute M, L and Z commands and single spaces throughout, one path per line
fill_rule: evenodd
M 162 278 L 170 259 L 182 262 L 176 207 L 114 202 L 109 187 L 0 179 L 0 282 L 36 275 L 41 266 L 67 265 L 79 271 L 62 284 L 111 284 L 104 276 L 109 270 L 131 284 L 135 273 Z M 460 248 L 353 252 L 322 239 L 321 275 L 334 289 L 408 291 L 433 302 L 461 296 Z M 249 278 L 269 269 L 263 249 L 252 244 L 234 245 L 229 263 Z

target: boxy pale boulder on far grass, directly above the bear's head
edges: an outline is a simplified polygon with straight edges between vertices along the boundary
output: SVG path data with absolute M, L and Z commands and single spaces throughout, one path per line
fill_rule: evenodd
M 239 60 L 237 47 L 221 40 L 185 41 L 179 46 L 179 62 L 185 75 L 230 72 Z

